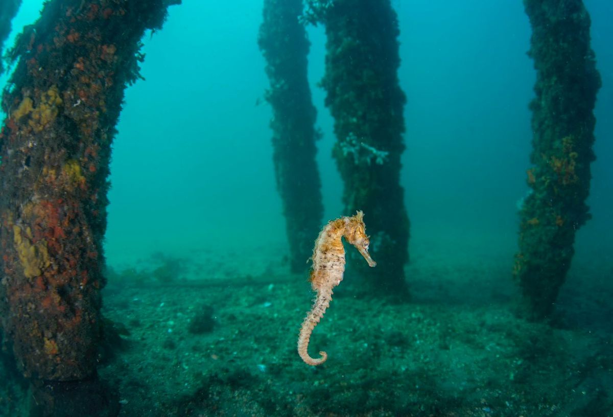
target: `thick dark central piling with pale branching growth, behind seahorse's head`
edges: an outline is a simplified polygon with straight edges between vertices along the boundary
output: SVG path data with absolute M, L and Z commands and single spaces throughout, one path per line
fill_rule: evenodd
M 389 0 L 308 2 L 326 27 L 322 86 L 334 118 L 333 156 L 345 183 L 345 213 L 364 211 L 374 270 L 356 263 L 369 293 L 406 293 L 409 220 L 400 186 L 405 94 L 398 83 L 398 20 Z M 367 270 L 368 269 L 368 270 Z

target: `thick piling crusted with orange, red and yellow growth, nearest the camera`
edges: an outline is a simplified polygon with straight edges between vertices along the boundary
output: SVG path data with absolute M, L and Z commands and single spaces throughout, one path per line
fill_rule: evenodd
M 110 145 L 139 42 L 178 0 L 53 0 L 17 42 L 0 136 L 1 324 L 41 415 L 112 415 L 97 379 Z

